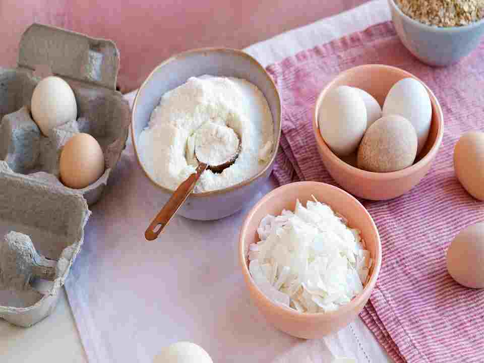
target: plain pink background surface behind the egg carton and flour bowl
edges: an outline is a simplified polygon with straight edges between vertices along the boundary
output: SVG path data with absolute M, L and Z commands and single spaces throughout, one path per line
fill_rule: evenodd
M 168 56 L 190 48 L 244 48 L 366 0 L 0 0 L 0 66 L 14 67 L 23 31 L 55 25 L 112 39 L 121 54 L 118 85 L 137 88 Z

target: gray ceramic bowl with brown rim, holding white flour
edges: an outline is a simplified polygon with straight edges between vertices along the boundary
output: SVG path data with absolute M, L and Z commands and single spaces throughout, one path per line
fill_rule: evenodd
M 266 70 L 252 56 L 235 49 L 203 48 L 172 56 L 156 67 L 141 85 L 133 104 L 131 135 L 138 162 L 146 176 L 158 187 L 160 202 L 164 204 L 173 191 L 156 183 L 143 167 L 138 153 L 138 138 L 165 92 L 180 86 L 190 77 L 204 74 L 243 78 L 255 84 L 266 97 L 274 122 L 273 154 L 262 171 L 229 188 L 192 194 L 177 212 L 190 219 L 213 220 L 229 216 L 243 208 L 252 200 L 272 171 L 281 134 L 281 101 Z

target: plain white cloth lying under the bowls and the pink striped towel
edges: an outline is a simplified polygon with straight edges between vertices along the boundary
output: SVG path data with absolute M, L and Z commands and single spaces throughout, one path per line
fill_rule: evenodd
M 263 65 L 390 20 L 375 0 L 247 49 Z M 127 94 L 132 102 L 135 92 Z M 274 188 L 269 180 L 255 201 Z M 268 326 L 252 304 L 236 258 L 249 207 L 214 221 L 175 217 L 158 240 L 144 230 L 161 208 L 137 164 L 131 140 L 102 200 L 66 289 L 91 363 L 151 362 L 178 340 L 204 347 L 215 362 L 390 361 L 360 319 L 321 340 L 292 338 Z

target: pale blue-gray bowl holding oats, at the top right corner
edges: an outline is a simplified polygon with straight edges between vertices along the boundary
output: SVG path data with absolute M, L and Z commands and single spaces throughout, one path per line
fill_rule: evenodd
M 388 0 L 392 19 L 400 40 L 421 62 L 431 66 L 448 66 L 474 50 L 484 33 L 484 19 L 460 27 L 438 28 L 406 16 Z

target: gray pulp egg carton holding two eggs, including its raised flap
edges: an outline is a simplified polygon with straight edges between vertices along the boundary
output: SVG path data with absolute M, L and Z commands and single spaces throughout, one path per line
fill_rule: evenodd
M 0 68 L 0 160 L 13 172 L 80 193 L 96 203 L 126 146 L 130 107 L 116 91 L 119 52 L 112 41 L 33 24 L 23 34 L 18 68 Z M 63 78 L 74 91 L 78 118 L 43 135 L 32 119 L 30 101 L 45 76 Z M 93 184 L 70 189 L 59 181 L 59 158 L 77 133 L 101 146 L 105 171 Z

